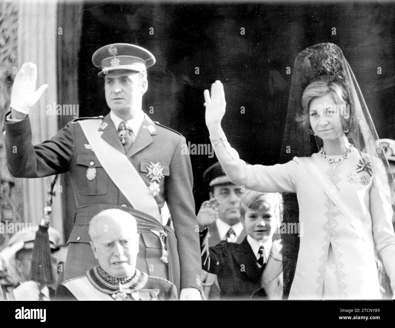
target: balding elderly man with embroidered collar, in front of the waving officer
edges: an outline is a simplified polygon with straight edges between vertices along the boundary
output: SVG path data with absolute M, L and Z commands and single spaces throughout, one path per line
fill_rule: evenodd
M 89 222 L 90 245 L 99 265 L 85 276 L 58 286 L 58 299 L 68 300 L 175 300 L 170 281 L 135 268 L 139 234 L 135 218 L 119 209 L 104 210 Z

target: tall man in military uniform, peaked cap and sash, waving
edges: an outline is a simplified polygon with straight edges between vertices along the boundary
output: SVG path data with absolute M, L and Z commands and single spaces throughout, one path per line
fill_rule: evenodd
M 101 69 L 98 75 L 104 77 L 110 113 L 104 118 L 73 120 L 51 140 L 36 146 L 31 144 L 26 117 L 47 85 L 35 91 L 36 65 L 23 64 L 12 88 L 11 113 L 6 115 L 9 170 L 24 178 L 70 171 L 77 212 L 68 240 L 65 280 L 97 265 L 89 244 L 88 222 L 100 210 L 106 206 L 120 208 L 134 211 L 136 219 L 147 216 L 147 220 L 160 222 L 166 201 L 178 252 L 168 250 L 173 254 L 167 258 L 163 246 L 161 260 L 174 261 L 179 255 L 180 299 L 199 299 L 201 260 L 192 167 L 189 156 L 181 152 L 186 141 L 179 133 L 152 122 L 141 108 L 148 88 L 146 69 L 155 58 L 144 48 L 115 43 L 98 49 L 92 62 Z M 160 234 L 162 245 L 165 235 Z M 146 246 L 148 252 L 147 242 Z M 172 282 L 177 286 L 177 281 Z

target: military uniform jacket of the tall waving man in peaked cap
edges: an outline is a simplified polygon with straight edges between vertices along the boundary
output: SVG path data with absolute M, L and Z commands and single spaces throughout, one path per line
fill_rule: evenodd
M 99 119 L 99 118 L 98 118 Z M 109 114 L 99 131 L 111 146 L 125 153 L 117 129 Z M 81 276 L 97 265 L 90 248 L 87 213 L 84 206 L 111 204 L 132 207 L 102 168 L 77 121 L 72 121 L 58 134 L 36 146 L 32 145 L 29 118 L 20 122 L 5 123 L 8 167 L 15 177 L 39 178 L 70 172 L 76 198 L 75 226 L 68 240 L 69 250 L 65 263 L 64 279 Z M 159 208 L 167 202 L 178 242 L 181 289 L 201 287 L 201 261 L 199 235 L 196 231 L 195 204 L 192 195 L 192 168 L 188 155 L 181 153 L 185 138 L 171 129 L 145 120 L 127 156 L 147 187 L 150 178 L 147 166 L 160 163 L 164 178 L 160 179 L 159 195 L 154 197 Z M 16 146 L 17 152 L 13 152 Z M 88 180 L 87 169 L 95 168 L 96 177 Z M 127 174 L 127 172 L 124 172 Z M 89 206 L 88 206 L 89 207 Z M 84 217 L 85 216 L 85 217 Z M 80 223 L 79 223 L 80 222 Z M 149 245 L 146 245 L 150 247 Z M 151 246 L 152 247 L 152 246 Z M 138 265 L 138 264 L 137 264 Z M 141 268 L 145 271 L 144 268 Z M 148 272 L 152 274 L 151 272 Z

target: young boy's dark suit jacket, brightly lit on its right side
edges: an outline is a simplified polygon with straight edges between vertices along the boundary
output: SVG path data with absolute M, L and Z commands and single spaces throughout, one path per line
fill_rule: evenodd
M 207 231 L 201 233 L 201 249 Z M 221 299 L 282 297 L 282 257 L 279 240 L 273 246 L 267 264 L 261 272 L 247 237 L 241 244 L 220 242 L 209 247 L 210 264 L 202 255 L 202 268 L 216 274 L 221 289 Z

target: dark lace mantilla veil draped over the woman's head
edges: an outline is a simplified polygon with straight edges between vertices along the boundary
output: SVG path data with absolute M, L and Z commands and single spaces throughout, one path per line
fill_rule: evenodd
M 323 75 L 329 79 L 341 81 L 350 98 L 350 115 L 352 124 L 346 134 L 348 140 L 359 152 L 379 158 L 373 161 L 373 174 L 379 174 L 382 190 L 387 190 L 387 200 L 395 208 L 395 187 L 389 164 L 381 146 L 377 146 L 378 135 L 369 114 L 365 100 L 355 76 L 341 49 L 333 43 L 319 43 L 300 52 L 295 59 L 292 71 L 291 90 L 288 100 L 286 125 L 282 140 L 280 163 L 286 163 L 294 156 L 309 157 L 319 151 L 322 140 L 308 134 L 295 121 L 297 114 L 301 114 L 302 94 L 310 82 Z M 318 140 L 317 140 L 318 139 Z M 383 165 L 381 165 L 381 163 Z M 388 186 L 391 186 L 390 188 Z M 283 223 L 298 223 L 299 209 L 295 194 L 284 194 Z M 394 217 L 392 218 L 394 223 Z M 297 253 L 299 251 L 299 237 L 297 234 L 282 234 L 283 240 L 283 268 L 284 268 L 284 296 L 287 298 L 295 274 Z M 384 279 L 387 279 L 384 278 Z M 385 282 L 382 282 L 382 285 Z

